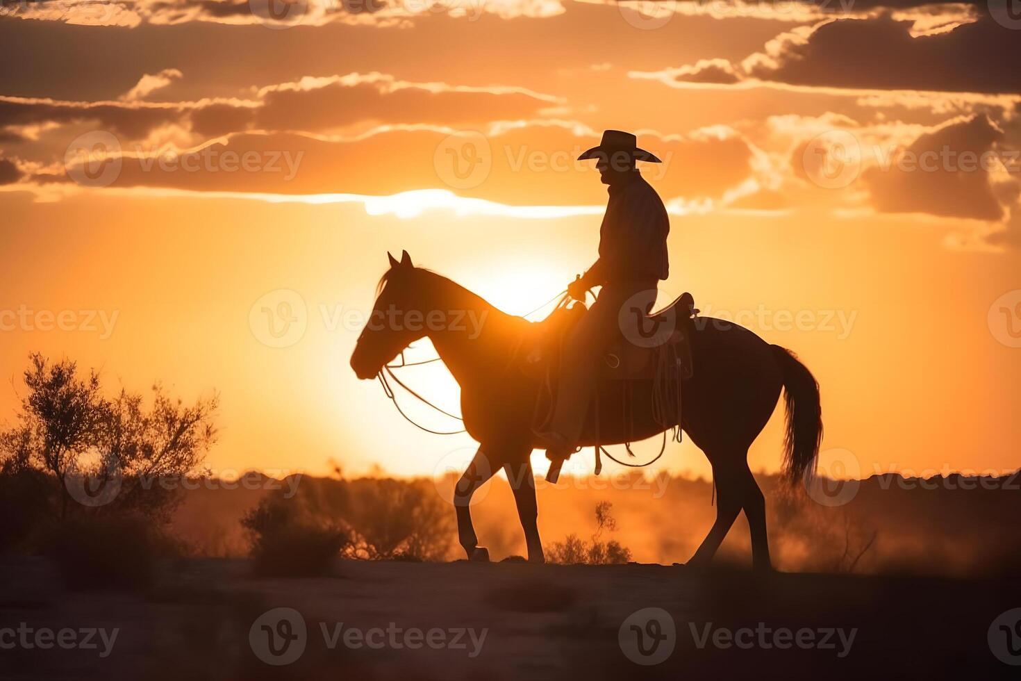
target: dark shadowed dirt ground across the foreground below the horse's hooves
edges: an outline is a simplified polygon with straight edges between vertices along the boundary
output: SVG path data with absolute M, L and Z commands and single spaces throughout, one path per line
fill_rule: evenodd
M 143 592 L 69 592 L 46 561 L 5 558 L 0 678 L 729 681 L 1021 672 L 998 659 L 1009 649 L 994 649 L 993 622 L 1021 606 L 1016 583 L 634 564 L 341 562 L 335 576 L 315 579 L 256 579 L 249 570 L 244 560 L 188 560 L 161 566 Z M 54 642 L 61 637 L 62 645 Z

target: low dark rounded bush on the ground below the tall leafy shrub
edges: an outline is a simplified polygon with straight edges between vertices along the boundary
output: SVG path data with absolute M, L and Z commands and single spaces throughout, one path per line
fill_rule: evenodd
M 140 516 L 80 516 L 45 533 L 43 552 L 70 589 L 151 586 L 156 558 L 173 543 Z

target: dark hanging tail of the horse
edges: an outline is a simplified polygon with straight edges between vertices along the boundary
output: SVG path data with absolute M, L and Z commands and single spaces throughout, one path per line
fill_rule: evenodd
M 783 437 L 783 474 L 789 482 L 815 475 L 819 443 L 823 439 L 819 382 L 809 368 L 787 348 L 771 345 L 783 373 L 783 393 L 787 403 L 787 427 Z

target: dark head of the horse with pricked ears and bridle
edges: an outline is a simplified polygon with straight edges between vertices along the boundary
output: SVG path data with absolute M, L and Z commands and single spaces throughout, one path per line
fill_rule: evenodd
M 426 335 L 425 327 L 416 323 L 422 315 L 419 271 L 407 251 L 399 261 L 390 253 L 387 257 L 390 269 L 380 280 L 373 312 L 351 354 L 351 369 L 359 379 L 375 378 L 384 364 Z

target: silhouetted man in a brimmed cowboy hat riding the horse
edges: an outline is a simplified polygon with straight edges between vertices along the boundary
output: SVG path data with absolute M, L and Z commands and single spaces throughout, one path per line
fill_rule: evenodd
M 610 201 L 599 228 L 599 257 L 568 286 L 568 295 L 584 301 L 589 289 L 601 289 L 565 339 L 556 404 L 548 430 L 537 433 L 557 471 L 577 449 L 595 389 L 596 361 L 622 332 L 628 337 L 631 327 L 637 326 L 633 307 L 645 313 L 651 309 L 657 282 L 669 274 L 667 209 L 636 167 L 637 161 L 662 161 L 639 149 L 634 135 L 619 130 L 603 132 L 599 146 L 578 160 L 592 158 L 597 159 L 595 166 L 607 185 Z

